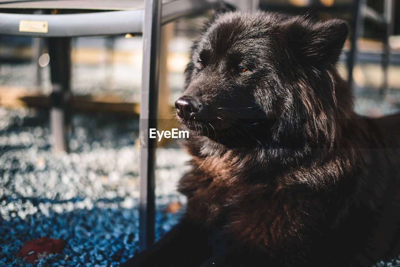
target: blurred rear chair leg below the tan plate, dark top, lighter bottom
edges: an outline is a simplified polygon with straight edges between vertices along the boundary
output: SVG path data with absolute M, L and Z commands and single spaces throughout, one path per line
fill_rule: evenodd
M 68 151 L 70 131 L 70 38 L 49 38 L 52 93 L 50 95 L 50 127 L 53 151 Z

